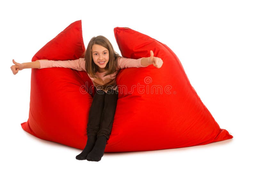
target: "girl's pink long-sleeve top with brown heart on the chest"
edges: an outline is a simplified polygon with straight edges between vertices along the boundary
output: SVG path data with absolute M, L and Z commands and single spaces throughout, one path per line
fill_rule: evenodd
M 96 77 L 91 77 L 89 74 L 88 76 L 91 78 L 93 85 L 96 87 L 97 90 L 104 90 L 105 92 L 108 89 L 114 89 L 118 91 L 118 87 L 116 85 L 116 76 L 120 69 L 122 68 L 129 68 L 129 67 L 146 67 L 141 65 L 140 59 L 129 59 L 125 57 L 119 57 L 117 59 L 117 68 L 116 72 L 113 74 L 109 74 L 104 76 L 106 72 L 99 73 L 96 72 Z M 78 71 L 86 71 L 85 70 L 85 60 L 84 58 L 79 58 L 77 60 L 36 60 L 40 62 L 40 68 L 50 68 L 50 67 L 64 67 L 64 68 L 72 68 Z

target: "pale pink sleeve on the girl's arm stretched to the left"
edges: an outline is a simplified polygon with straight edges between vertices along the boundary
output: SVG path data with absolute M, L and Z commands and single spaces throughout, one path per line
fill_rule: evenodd
M 64 67 L 64 68 L 72 68 L 78 71 L 86 71 L 85 70 L 85 60 L 84 58 L 79 58 L 77 60 L 36 60 L 40 63 L 40 68 L 50 68 L 50 67 Z

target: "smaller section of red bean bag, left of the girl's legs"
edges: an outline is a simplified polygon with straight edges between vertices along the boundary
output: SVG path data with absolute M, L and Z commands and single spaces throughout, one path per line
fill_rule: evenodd
M 81 20 L 70 24 L 32 58 L 75 60 L 84 57 Z M 32 135 L 64 145 L 83 148 L 88 113 L 92 103 L 92 81 L 84 71 L 71 68 L 32 69 L 28 121 L 22 128 Z M 80 92 L 80 87 L 81 92 Z

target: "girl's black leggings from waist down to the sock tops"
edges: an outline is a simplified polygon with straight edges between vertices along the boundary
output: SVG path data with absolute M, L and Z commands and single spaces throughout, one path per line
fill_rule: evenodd
M 87 136 L 109 138 L 116 112 L 117 98 L 116 90 L 109 89 L 107 93 L 103 90 L 96 90 L 89 111 Z

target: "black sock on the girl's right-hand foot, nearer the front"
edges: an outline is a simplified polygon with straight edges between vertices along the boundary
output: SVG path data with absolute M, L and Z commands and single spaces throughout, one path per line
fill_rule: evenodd
M 104 154 L 104 150 L 107 144 L 107 138 L 105 136 L 99 136 L 95 142 L 92 151 L 87 155 L 88 161 L 100 161 Z

